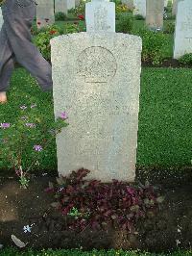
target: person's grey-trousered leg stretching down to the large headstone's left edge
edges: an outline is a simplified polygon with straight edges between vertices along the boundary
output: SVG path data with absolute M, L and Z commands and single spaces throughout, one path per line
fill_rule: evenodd
M 6 32 L 16 61 L 36 78 L 42 90 L 52 90 L 51 64 L 42 57 L 32 43 L 31 26 L 34 14 L 33 6 L 31 6 L 20 7 L 17 13 L 5 15 Z

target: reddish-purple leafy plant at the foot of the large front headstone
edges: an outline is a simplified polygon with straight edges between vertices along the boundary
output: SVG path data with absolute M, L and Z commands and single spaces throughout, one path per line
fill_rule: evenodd
M 57 185 L 50 183 L 46 192 L 52 192 L 61 214 L 67 217 L 67 226 L 73 230 L 105 228 L 112 225 L 130 233 L 135 232 L 139 218 L 156 215 L 163 196 L 148 182 L 132 185 L 118 180 L 102 183 L 87 181 L 84 177 L 90 171 L 79 169 L 69 176 L 57 178 Z

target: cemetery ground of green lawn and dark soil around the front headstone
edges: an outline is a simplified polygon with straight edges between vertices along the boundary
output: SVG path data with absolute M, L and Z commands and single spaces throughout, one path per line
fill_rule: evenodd
M 190 68 L 142 68 L 135 184 L 148 181 L 157 186 L 164 201 L 155 213 L 136 221 L 135 232 L 130 234 L 110 225 L 99 230 L 87 225 L 77 232 L 65 226 L 66 218 L 51 206 L 54 195 L 45 192 L 49 182 L 55 183 L 58 175 L 53 141 L 46 150 L 36 152 L 38 162 L 30 172 L 28 190 L 20 189 L 12 168 L 6 167 L 9 166 L 6 153 L 1 152 L 1 243 L 12 245 L 13 234 L 33 248 L 139 248 L 156 252 L 189 249 L 192 243 L 191 75 Z M 54 120 L 51 93 L 41 92 L 23 68 L 13 73 L 11 87 L 9 104 L 1 106 L 1 120 L 16 124 L 22 116 L 28 116 L 29 121 L 36 119 L 45 126 Z M 45 140 L 50 137 L 40 132 Z M 28 149 L 24 158 L 27 165 Z M 34 223 L 31 232 L 25 233 L 24 226 Z

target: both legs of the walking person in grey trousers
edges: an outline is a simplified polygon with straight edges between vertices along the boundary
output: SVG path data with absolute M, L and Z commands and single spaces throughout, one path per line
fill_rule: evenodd
M 31 28 L 36 15 L 36 2 L 6 0 L 2 5 L 2 13 L 4 23 L 0 32 L 0 103 L 7 102 L 15 61 L 36 78 L 41 90 L 52 90 L 51 64 L 32 43 Z

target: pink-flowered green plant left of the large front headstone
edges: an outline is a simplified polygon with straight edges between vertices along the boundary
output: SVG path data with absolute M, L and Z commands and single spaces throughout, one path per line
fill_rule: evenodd
M 0 166 L 6 158 L 7 167 L 14 170 L 25 189 L 30 181 L 30 171 L 39 165 L 39 159 L 47 154 L 50 142 L 55 140 L 61 128 L 68 125 L 65 122 L 65 112 L 60 113 L 57 120 L 51 122 L 36 115 L 36 108 L 36 104 L 21 105 L 20 116 L 16 122 L 0 124 Z

